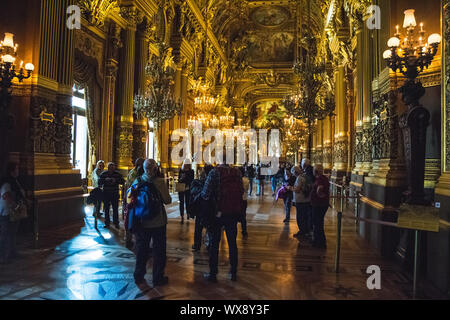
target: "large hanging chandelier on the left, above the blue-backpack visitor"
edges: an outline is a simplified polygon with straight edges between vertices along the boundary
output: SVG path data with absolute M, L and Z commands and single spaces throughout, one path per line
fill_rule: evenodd
M 145 67 L 150 82 L 144 92 L 134 98 L 136 114 L 146 117 L 157 126 L 180 115 L 183 110 L 181 99 L 173 96 L 175 70 L 171 66 L 171 49 L 164 43 L 158 44 L 158 47 L 159 56 L 153 56 Z

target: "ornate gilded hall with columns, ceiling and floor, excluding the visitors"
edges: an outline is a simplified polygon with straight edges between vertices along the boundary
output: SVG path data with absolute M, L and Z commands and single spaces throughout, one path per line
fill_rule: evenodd
M 0 300 L 450 298 L 449 0 L 0 6 L 1 177 L 17 163 L 28 204 Z M 205 282 L 208 251 L 191 251 L 194 220 L 180 224 L 180 141 L 196 178 L 219 154 L 323 167 L 327 249 L 292 236 L 296 208 L 283 222 L 277 165 L 248 197 L 248 238 L 238 224 L 238 281 L 222 240 L 218 283 Z M 105 229 L 88 201 L 100 160 L 126 178 L 139 158 L 156 160 L 172 197 L 170 282 L 149 291 L 133 281 L 125 205 Z M 366 285 L 370 266 L 381 289 Z

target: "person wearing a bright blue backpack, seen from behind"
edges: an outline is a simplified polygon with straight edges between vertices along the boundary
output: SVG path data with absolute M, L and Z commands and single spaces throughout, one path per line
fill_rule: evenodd
M 164 179 L 158 176 L 155 160 L 146 160 L 144 171 L 142 177 L 137 179 L 132 186 L 131 193 L 136 202 L 130 208 L 128 225 L 136 237 L 134 281 L 138 286 L 147 284 L 144 277 L 147 273 L 147 261 L 150 256 L 150 242 L 153 241 L 153 286 L 155 287 L 169 282 L 169 278 L 164 275 L 167 259 L 167 212 L 164 205 L 170 204 L 172 198 Z M 147 202 L 143 200 L 141 202 L 141 199 L 147 199 Z M 137 211 L 145 212 L 141 215 L 143 218 L 137 217 Z

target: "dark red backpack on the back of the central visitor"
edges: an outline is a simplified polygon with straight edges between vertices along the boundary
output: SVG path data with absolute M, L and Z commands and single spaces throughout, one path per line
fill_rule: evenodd
M 219 211 L 224 216 L 238 217 L 242 212 L 244 186 L 236 168 L 218 167 L 220 174 Z

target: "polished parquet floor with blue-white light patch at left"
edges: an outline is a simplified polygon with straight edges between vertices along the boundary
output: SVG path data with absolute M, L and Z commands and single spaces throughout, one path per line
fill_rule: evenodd
M 226 241 L 221 244 L 219 282 L 206 282 L 208 255 L 191 251 L 194 222 L 180 224 L 177 203 L 168 208 L 170 283 L 140 291 L 133 281 L 135 258 L 124 247 L 123 233 L 94 228 L 91 215 L 82 226 L 41 234 L 40 249 L 25 244 L 22 256 L 0 266 L 0 299 L 148 300 L 148 299 L 409 299 L 411 279 L 385 261 L 356 234 L 354 222 L 344 221 L 341 272 L 334 273 L 336 215 L 326 217 L 328 249 L 319 250 L 292 237 L 297 230 L 295 209 L 290 224 L 283 221 L 281 200 L 251 197 L 249 237 L 238 235 L 238 282 L 227 280 Z M 240 226 L 239 226 L 240 230 Z M 381 290 L 369 290 L 367 267 L 381 268 Z M 147 275 L 151 284 L 150 274 Z M 425 296 L 435 298 L 435 296 Z

